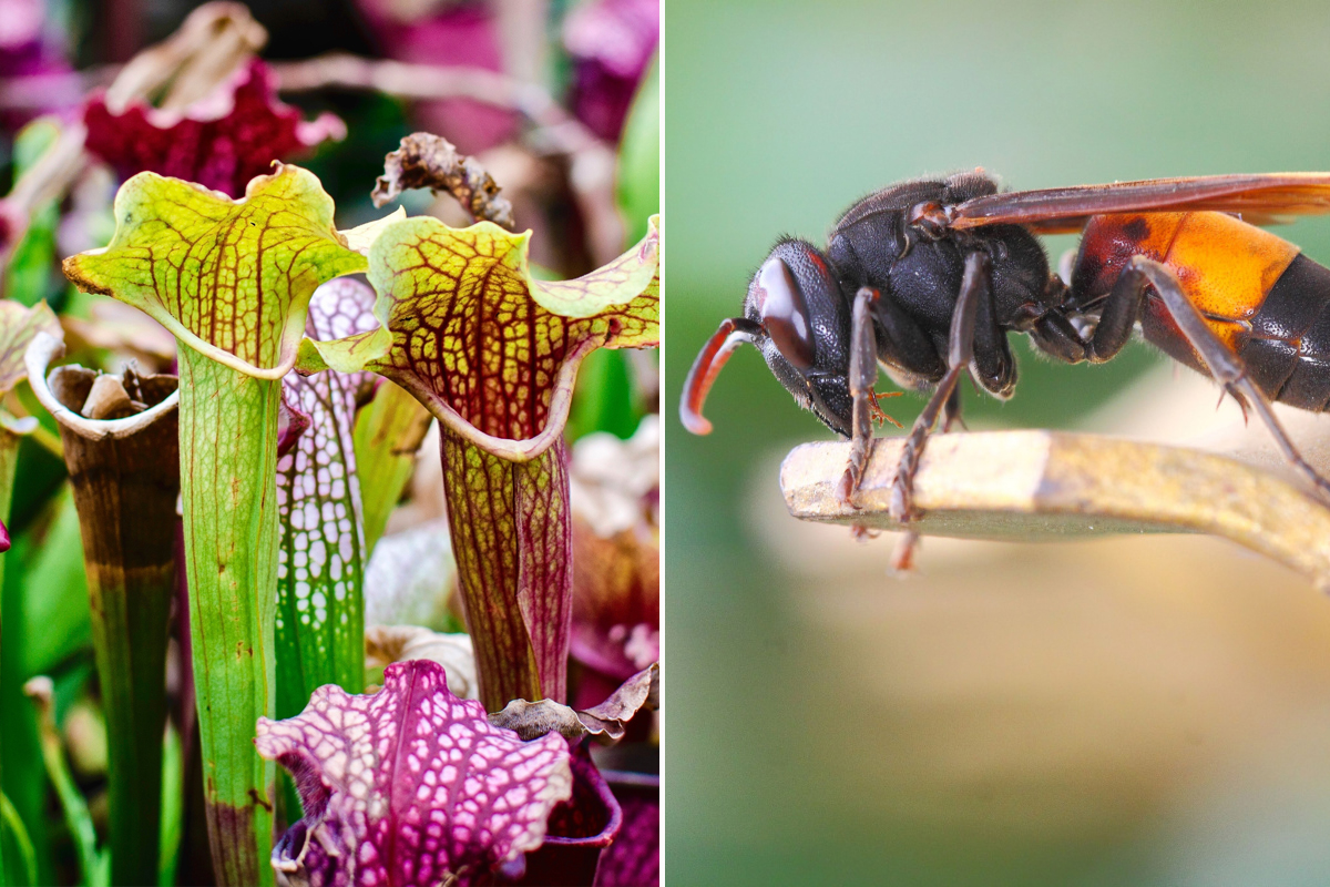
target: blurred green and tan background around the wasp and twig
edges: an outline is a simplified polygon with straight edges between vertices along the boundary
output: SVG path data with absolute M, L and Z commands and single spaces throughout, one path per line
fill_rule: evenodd
M 831 435 L 754 350 L 709 438 L 674 419 L 777 235 L 821 243 L 882 185 L 1330 169 L 1330 4 L 669 0 L 665 40 L 669 883 L 1330 882 L 1306 582 L 1194 537 L 927 540 L 896 581 L 890 540 L 786 516 L 781 456 Z M 1330 261 L 1330 222 L 1279 233 Z M 1019 356 L 1008 404 L 967 390 L 971 428 L 1133 415 L 1174 382 L 1138 343 Z

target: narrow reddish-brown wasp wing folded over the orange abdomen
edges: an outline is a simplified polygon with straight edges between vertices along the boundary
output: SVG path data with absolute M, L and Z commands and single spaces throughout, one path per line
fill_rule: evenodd
M 1232 213 L 1253 225 L 1330 213 L 1330 173 L 1264 173 L 1152 178 L 976 197 L 954 209 L 954 229 L 1023 225 L 1039 234 L 1075 234 L 1104 213 Z

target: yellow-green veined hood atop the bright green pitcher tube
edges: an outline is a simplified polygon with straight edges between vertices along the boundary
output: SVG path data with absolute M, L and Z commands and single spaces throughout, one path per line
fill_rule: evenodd
M 363 267 L 332 227 L 332 198 L 298 166 L 255 178 L 239 201 L 140 173 L 116 195 L 110 245 L 65 259 L 82 290 L 262 368 L 294 355 L 315 287 Z

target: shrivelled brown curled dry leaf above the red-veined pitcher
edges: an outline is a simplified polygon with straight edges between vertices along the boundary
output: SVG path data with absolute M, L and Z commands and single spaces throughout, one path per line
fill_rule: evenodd
M 412 188 L 448 191 L 471 218 L 512 229 L 512 203 L 499 194 L 495 180 L 479 161 L 458 153 L 442 136 L 412 133 L 403 138 L 402 148 L 383 158 L 383 176 L 371 197 L 375 206 L 383 206 Z

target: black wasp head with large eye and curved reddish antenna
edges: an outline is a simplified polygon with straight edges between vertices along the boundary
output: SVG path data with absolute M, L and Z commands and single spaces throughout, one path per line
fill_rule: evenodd
M 850 435 L 850 311 L 826 257 L 806 241 L 775 245 L 749 282 L 743 317 L 721 323 L 684 383 L 680 418 L 693 434 L 710 432 L 706 392 L 739 344 L 762 351 L 766 366 L 799 406 L 833 431 Z

